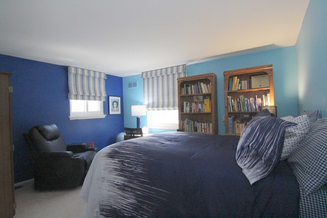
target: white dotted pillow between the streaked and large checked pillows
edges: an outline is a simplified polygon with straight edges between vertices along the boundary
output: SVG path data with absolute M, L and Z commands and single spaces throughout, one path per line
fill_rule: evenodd
M 288 118 L 285 119 L 285 117 L 282 117 L 281 119 L 287 120 Z M 285 160 L 290 156 L 298 147 L 299 143 L 307 136 L 311 127 L 308 114 L 293 117 L 287 121 L 296 123 L 297 126 L 292 126 L 285 130 L 281 160 Z

